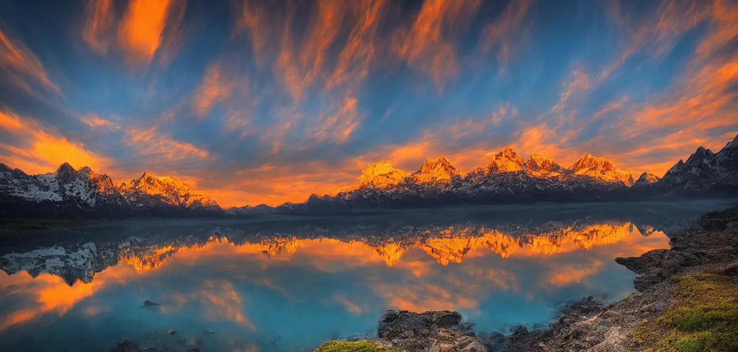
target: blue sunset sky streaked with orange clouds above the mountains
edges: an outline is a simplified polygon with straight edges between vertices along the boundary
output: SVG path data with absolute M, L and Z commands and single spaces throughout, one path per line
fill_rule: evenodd
M 0 1 L 0 162 L 301 202 L 506 146 L 638 177 L 738 133 L 738 1 Z

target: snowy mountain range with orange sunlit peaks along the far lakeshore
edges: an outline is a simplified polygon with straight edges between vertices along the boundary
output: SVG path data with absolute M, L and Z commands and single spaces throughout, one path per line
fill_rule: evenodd
M 584 155 L 569 167 L 510 147 L 486 166 L 463 172 L 446 158 L 428 158 L 408 175 L 387 161 L 372 163 L 359 185 L 337 194 L 312 194 L 303 203 L 277 207 L 221 208 L 215 200 L 174 177 L 144 172 L 128 183 L 87 166 L 63 163 L 56 172 L 27 175 L 0 163 L 0 216 L 145 217 L 321 214 L 367 208 L 533 203 L 537 201 L 640 200 L 658 194 L 738 194 L 738 136 L 713 153 L 697 148 L 663 177 L 644 172 L 635 180 L 605 158 Z

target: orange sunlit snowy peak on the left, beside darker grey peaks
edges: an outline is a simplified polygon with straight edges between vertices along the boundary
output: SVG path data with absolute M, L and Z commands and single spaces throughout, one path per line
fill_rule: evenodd
M 175 177 L 156 176 L 144 172 L 130 183 L 121 183 L 120 191 L 131 205 L 137 208 L 212 208 L 220 210 L 218 203 L 192 186 Z

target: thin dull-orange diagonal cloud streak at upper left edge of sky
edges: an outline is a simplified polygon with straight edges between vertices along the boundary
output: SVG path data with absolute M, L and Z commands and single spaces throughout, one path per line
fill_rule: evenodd
M 28 85 L 27 77 L 33 77 L 41 82 L 46 88 L 60 93 L 59 87 L 55 85 L 46 74 L 44 66 L 33 52 L 19 41 L 13 41 L 0 29 L 0 68 L 2 68 L 15 82 L 18 87 L 25 91 L 32 91 Z

